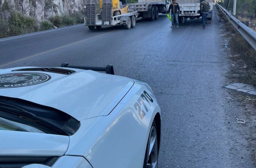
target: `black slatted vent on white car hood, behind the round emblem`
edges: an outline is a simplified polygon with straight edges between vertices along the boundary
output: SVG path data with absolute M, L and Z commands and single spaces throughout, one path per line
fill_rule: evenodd
M 70 70 L 70 69 L 63 69 L 63 68 L 22 68 L 22 69 L 15 69 L 12 71 L 43 71 L 43 72 L 52 72 L 52 73 L 60 73 L 63 75 L 70 75 L 72 73 L 75 73 L 75 70 Z

